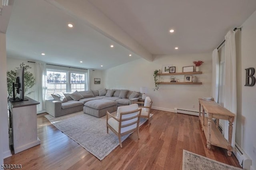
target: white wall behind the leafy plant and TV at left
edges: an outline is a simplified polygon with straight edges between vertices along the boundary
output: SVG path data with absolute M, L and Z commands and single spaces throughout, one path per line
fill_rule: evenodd
M 21 63 L 24 63 L 25 65 L 29 65 L 31 69 L 28 69 L 28 71 L 35 76 L 35 64 L 29 63 L 28 60 L 7 57 L 7 71 L 14 70 L 16 69 L 16 67 L 20 67 Z M 29 91 L 35 91 L 35 86 L 30 88 Z M 26 95 L 26 96 L 30 97 L 31 99 L 35 99 L 35 93 Z

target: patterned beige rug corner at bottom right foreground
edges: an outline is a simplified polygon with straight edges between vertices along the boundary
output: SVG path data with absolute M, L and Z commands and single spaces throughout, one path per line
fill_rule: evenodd
M 243 170 L 234 166 L 183 150 L 182 170 Z

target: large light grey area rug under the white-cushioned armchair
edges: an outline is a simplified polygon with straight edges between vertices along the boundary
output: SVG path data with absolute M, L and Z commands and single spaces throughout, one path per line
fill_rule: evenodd
M 112 114 L 116 114 L 112 113 Z M 97 118 L 83 113 L 83 111 L 64 115 L 61 117 L 45 117 L 62 131 L 72 138 L 99 160 L 103 160 L 116 146 L 119 146 L 118 137 L 111 131 L 106 131 L 106 116 Z M 150 114 L 152 117 L 152 114 Z M 147 119 L 140 119 L 140 126 Z M 122 142 L 129 136 L 127 134 L 121 137 Z

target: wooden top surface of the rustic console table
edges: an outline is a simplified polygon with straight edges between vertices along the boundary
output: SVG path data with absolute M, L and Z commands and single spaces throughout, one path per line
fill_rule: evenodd
M 204 100 L 204 99 L 199 99 L 199 103 L 204 107 L 204 110 L 207 113 L 212 113 L 216 115 L 226 115 L 226 116 L 233 116 L 235 117 L 236 115 L 232 112 L 230 112 L 228 109 L 220 106 L 218 103 L 215 101 L 211 100 Z

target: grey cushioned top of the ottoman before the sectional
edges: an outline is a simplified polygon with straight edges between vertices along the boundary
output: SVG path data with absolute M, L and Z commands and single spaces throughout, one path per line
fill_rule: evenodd
M 100 100 L 94 100 L 94 101 L 88 101 L 84 103 L 84 106 L 90 107 L 93 109 L 104 109 L 110 106 L 116 105 L 116 102 L 111 101 L 111 100 L 105 100 L 105 99 L 100 99 Z

